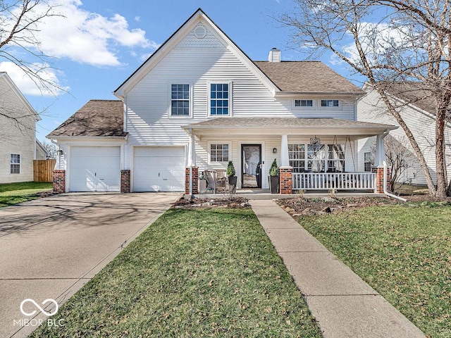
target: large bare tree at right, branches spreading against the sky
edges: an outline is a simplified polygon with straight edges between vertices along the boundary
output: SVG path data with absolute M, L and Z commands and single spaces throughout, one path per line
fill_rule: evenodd
M 278 20 L 293 28 L 296 46 L 309 56 L 331 51 L 364 75 L 407 135 L 431 194 L 446 196 L 445 122 L 449 117 L 450 22 L 447 0 L 295 0 L 296 11 Z M 414 134 L 393 101 L 393 82 L 421 82 L 435 104 L 437 187 Z

